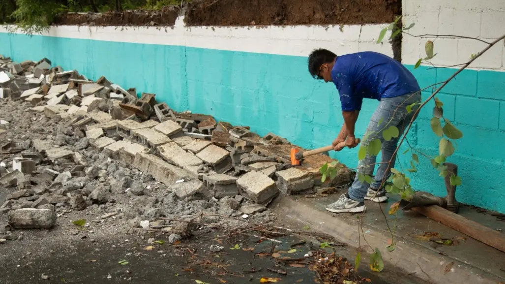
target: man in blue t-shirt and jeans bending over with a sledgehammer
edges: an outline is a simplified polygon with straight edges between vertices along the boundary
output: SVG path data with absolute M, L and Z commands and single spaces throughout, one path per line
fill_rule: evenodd
M 396 159 L 392 159 L 389 167 L 387 162 L 391 160 L 403 130 L 421 102 L 419 84 L 398 61 L 376 52 L 337 56 L 331 51 L 316 49 L 310 54 L 308 64 L 314 78 L 333 82 L 338 90 L 344 124 L 333 141 L 335 151 L 342 150 L 337 147 L 341 141 L 345 141 L 349 148 L 357 146 L 355 124 L 363 99 L 380 102 L 361 141 L 362 146 L 368 146 L 375 139 L 380 139 L 382 143 L 382 161 L 372 184 L 361 182 L 358 178 L 359 173 L 373 175 L 376 156 L 367 154 L 359 162 L 355 180 L 347 193 L 326 207 L 334 213 L 363 212 L 366 209 L 365 199 L 375 202 L 387 200 L 383 181 L 389 178 L 390 168 L 394 167 Z M 407 111 L 408 106 L 412 111 Z M 386 141 L 382 132 L 391 126 L 398 128 L 399 135 Z M 379 188 L 381 184 L 382 188 Z

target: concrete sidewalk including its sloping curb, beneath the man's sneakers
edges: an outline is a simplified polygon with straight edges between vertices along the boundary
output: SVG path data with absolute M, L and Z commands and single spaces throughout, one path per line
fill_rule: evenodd
M 360 213 L 334 214 L 324 209 L 325 205 L 336 201 L 343 191 L 342 188 L 338 193 L 317 198 L 281 196 L 271 208 L 279 216 L 307 224 L 311 229 L 332 234 L 349 247 L 358 248 Z M 388 266 L 392 265 L 405 270 L 406 274 L 415 273 L 419 278 L 440 284 L 505 282 L 505 271 L 500 270 L 505 269 L 505 253 L 415 212 L 400 211 L 395 232 L 395 250 L 388 252 L 386 246 L 391 237 L 387 224 L 392 229 L 395 218 L 387 212 L 395 201 L 394 198 L 390 198 L 388 202 L 380 204 L 387 222 L 377 203 L 371 202 L 363 217 L 366 242 L 372 248 L 381 251 L 385 262 L 383 271 L 391 269 Z M 505 222 L 495 221 L 495 217 L 490 214 L 478 213 L 476 209 L 468 206 L 462 206 L 460 214 L 493 229 L 505 228 Z M 455 245 L 444 246 L 416 238 L 416 235 L 423 235 L 426 232 L 439 233 L 441 238 L 454 240 Z M 367 249 L 367 253 L 372 253 L 366 242 L 362 236 L 362 248 Z M 356 250 L 352 257 L 355 256 Z M 368 265 L 368 260 L 363 259 L 363 265 Z

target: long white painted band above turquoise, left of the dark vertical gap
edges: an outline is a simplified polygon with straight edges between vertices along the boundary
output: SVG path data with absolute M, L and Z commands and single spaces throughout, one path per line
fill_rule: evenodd
M 326 48 L 336 54 L 375 51 L 393 56 L 387 40 L 377 44 L 381 25 L 339 26 L 246 26 L 246 27 L 185 27 L 184 17 L 177 18 L 174 27 L 91 27 L 56 26 L 43 35 L 93 39 L 226 51 L 308 56 L 315 48 Z M 8 32 L 0 26 L 0 32 Z M 389 35 L 386 35 L 386 38 Z

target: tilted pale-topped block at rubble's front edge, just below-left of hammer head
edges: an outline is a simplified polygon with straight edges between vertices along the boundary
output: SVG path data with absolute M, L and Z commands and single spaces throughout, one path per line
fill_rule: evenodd
M 237 179 L 237 186 L 243 197 L 259 204 L 268 203 L 279 194 L 273 179 L 255 171 Z

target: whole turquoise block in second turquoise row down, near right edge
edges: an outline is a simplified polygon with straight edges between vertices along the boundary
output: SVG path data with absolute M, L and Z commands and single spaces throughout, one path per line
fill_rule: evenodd
M 457 97 L 456 109 L 458 110 L 455 120 L 457 123 L 498 129 L 499 101 Z M 484 113 L 486 115 L 482 115 Z

